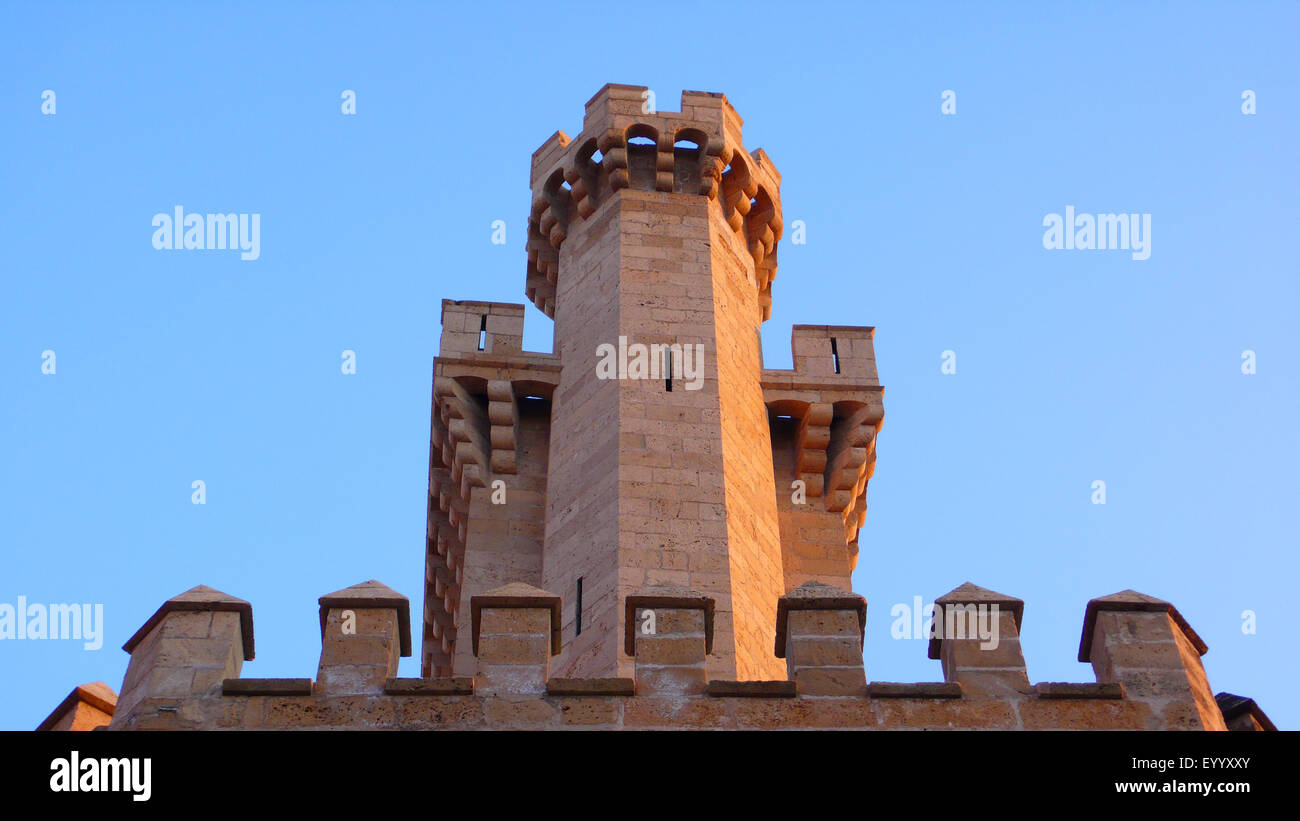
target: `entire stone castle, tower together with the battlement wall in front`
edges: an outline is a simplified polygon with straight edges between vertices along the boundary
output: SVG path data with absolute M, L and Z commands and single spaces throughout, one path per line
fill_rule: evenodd
M 794 368 L 762 366 L 780 177 L 722 95 L 644 92 L 606 86 L 533 156 L 525 290 L 554 352 L 523 349 L 523 305 L 442 304 L 420 678 L 378 581 L 320 598 L 315 678 L 243 677 L 252 605 L 200 585 L 126 642 L 116 701 L 79 687 L 42 726 L 1271 729 L 1132 590 L 1087 604 L 1095 682 L 1031 683 L 1024 601 L 972 583 L 918 644 L 942 681 L 868 679 L 872 329 L 796 325 Z

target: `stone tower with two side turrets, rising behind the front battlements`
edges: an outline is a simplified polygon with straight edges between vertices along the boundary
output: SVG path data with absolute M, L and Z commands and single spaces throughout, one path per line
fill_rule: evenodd
M 872 329 L 796 326 L 794 369 L 763 369 L 780 174 L 723 95 L 647 97 L 606 86 L 533 155 L 525 292 L 554 352 L 521 349 L 523 305 L 443 301 L 425 676 L 472 676 L 471 599 L 524 582 L 563 599 L 556 674 L 629 676 L 624 600 L 676 586 L 716 603 L 711 677 L 777 679 L 777 599 L 850 587 Z

